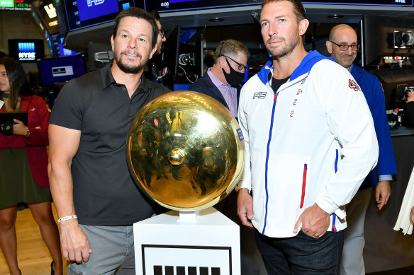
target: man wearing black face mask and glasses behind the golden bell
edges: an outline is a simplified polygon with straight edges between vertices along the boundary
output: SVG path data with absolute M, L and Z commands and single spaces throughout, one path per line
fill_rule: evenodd
M 242 42 L 225 40 L 218 44 L 216 60 L 207 73 L 191 84 L 189 90 L 211 96 L 237 118 L 240 83 L 245 78 L 250 52 Z

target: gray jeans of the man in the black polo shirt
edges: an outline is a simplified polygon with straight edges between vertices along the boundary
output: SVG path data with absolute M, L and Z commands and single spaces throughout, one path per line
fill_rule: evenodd
M 67 275 L 135 275 L 133 226 L 84 226 L 92 250 L 88 262 L 69 262 Z

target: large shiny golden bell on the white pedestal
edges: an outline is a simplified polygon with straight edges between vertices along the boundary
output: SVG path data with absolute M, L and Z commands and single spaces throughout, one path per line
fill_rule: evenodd
M 236 119 L 217 100 L 191 91 L 167 93 L 135 117 L 128 167 L 142 192 L 162 206 L 205 209 L 240 180 L 242 139 Z

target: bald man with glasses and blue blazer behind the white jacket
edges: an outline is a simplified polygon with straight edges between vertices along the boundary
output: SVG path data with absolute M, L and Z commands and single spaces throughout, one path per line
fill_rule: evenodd
M 374 119 L 376 137 L 379 144 L 379 158 L 376 168 L 372 170 L 362 183 L 359 191 L 347 204 L 347 230 L 342 252 L 340 274 L 365 274 L 364 259 L 364 221 L 372 188 L 375 188 L 375 200 L 379 210 L 388 202 L 391 195 L 390 181 L 396 174 L 396 160 L 394 159 L 391 135 L 385 110 L 385 98 L 378 78 L 368 71 L 353 64 L 359 49 L 357 33 L 349 25 L 336 25 L 330 31 L 326 42 L 332 59 L 347 69 L 354 76 L 371 110 Z M 377 182 L 377 177 L 379 182 Z

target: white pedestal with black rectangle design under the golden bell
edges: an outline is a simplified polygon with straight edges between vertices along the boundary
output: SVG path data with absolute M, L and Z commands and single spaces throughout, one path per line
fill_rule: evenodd
M 139 275 L 240 275 L 240 230 L 210 207 L 196 221 L 169 211 L 134 223 Z

